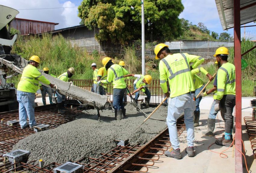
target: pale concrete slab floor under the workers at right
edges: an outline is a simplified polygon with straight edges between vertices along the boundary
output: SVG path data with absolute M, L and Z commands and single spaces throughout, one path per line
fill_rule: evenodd
M 174 158 L 167 157 L 165 155 L 161 156 L 158 161 L 155 162 L 154 166 L 149 166 L 149 173 L 161 172 L 161 173 L 180 173 L 180 172 L 203 172 L 203 173 L 215 173 L 215 172 L 235 172 L 235 148 L 234 147 L 221 147 L 215 143 L 216 138 L 222 136 L 224 132 L 224 121 L 222 120 L 220 113 L 218 114 L 218 119 L 216 119 L 216 125 L 214 132 L 217 134 L 215 137 L 203 136 L 202 131 L 207 129 L 207 118 L 209 110 L 202 110 L 200 115 L 199 127 L 195 128 L 195 157 L 188 157 L 185 150 L 186 144 L 186 131 L 179 137 L 180 140 L 180 150 L 182 154 L 182 159 L 177 160 Z M 251 172 L 256 172 L 256 162 L 253 157 L 251 143 L 248 139 L 248 134 L 245 129 L 245 123 L 243 122 L 243 117 L 251 116 L 251 112 L 242 112 L 242 139 L 245 144 L 246 161 L 247 166 Z M 233 134 L 234 135 L 234 134 Z M 212 145 L 211 145 L 212 144 Z M 208 149 L 209 146 L 210 150 Z M 221 155 L 224 152 L 228 157 Z M 217 152 L 217 153 L 215 153 Z M 161 152 L 159 152 L 161 153 Z M 151 164 L 152 162 L 148 162 Z M 245 166 L 244 166 L 245 167 Z M 141 171 L 146 171 L 142 168 Z M 246 168 L 244 168 L 244 172 Z

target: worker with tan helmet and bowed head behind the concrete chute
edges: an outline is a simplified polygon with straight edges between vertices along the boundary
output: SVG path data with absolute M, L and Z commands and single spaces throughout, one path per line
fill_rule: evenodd
M 75 74 L 75 69 L 73 67 L 70 67 L 67 72 L 61 74 L 58 79 L 67 82 L 68 78 L 71 78 L 73 76 L 73 74 Z M 58 113 L 64 113 L 65 112 L 65 108 L 64 108 L 64 104 L 65 104 L 65 99 L 66 96 L 60 94 L 58 91 L 56 91 L 57 94 L 57 106 L 58 106 Z

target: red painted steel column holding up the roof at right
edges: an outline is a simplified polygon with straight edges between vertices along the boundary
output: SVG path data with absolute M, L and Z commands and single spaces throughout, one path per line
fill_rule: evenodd
M 243 172 L 242 154 L 238 151 L 242 151 L 242 73 L 240 30 L 240 0 L 234 0 L 234 62 L 236 67 L 236 173 Z

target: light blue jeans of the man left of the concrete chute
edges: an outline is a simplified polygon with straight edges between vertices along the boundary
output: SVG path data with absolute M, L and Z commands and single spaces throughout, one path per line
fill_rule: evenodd
M 27 117 L 29 125 L 36 125 L 35 120 L 35 93 L 23 92 L 17 90 L 17 101 L 19 102 L 20 127 L 27 126 Z

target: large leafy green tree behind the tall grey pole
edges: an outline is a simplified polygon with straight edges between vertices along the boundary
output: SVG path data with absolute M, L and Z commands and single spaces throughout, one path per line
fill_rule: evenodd
M 145 0 L 145 37 L 151 31 L 155 40 L 171 40 L 181 35 L 178 18 L 184 7 L 181 0 Z M 83 0 L 78 16 L 89 29 L 98 29 L 96 39 L 124 44 L 141 37 L 141 1 Z M 81 22 L 82 23 L 82 22 Z

